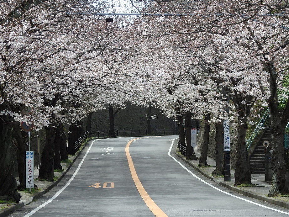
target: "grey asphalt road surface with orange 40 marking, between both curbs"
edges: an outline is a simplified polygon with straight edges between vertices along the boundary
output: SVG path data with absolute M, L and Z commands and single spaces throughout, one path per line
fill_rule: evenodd
M 175 138 L 92 140 L 55 188 L 9 216 L 289 216 L 200 175 Z

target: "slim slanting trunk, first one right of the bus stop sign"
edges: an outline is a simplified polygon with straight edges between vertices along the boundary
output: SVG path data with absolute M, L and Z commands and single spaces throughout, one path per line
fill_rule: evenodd
M 199 160 L 198 167 L 208 167 L 207 157 L 208 157 L 208 147 L 209 147 L 209 134 L 210 134 L 210 123 L 208 122 L 211 119 L 211 113 L 208 112 L 205 117 L 205 125 L 204 125 L 204 135 L 203 135 L 203 144 L 201 148 L 201 156 Z

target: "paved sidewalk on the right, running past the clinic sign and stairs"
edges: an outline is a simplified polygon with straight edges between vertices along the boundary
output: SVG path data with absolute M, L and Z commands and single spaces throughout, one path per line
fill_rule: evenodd
M 196 148 L 195 148 L 196 149 Z M 195 150 L 196 156 L 199 158 L 201 154 Z M 183 161 L 187 162 L 190 166 L 192 166 L 194 169 L 196 169 L 198 172 L 200 172 L 205 177 L 213 180 L 214 182 L 218 183 L 219 185 L 222 185 L 226 188 L 229 188 L 232 191 L 238 192 L 240 194 L 243 194 L 245 196 L 255 198 L 258 200 L 263 200 L 271 204 L 275 204 L 277 206 L 284 207 L 286 209 L 289 209 L 289 197 L 278 197 L 278 198 L 269 198 L 268 193 L 271 189 L 271 184 L 265 182 L 265 174 L 252 174 L 251 182 L 254 187 L 234 187 L 235 183 L 235 177 L 234 177 L 234 170 L 231 169 L 231 182 L 224 182 L 223 177 L 213 177 L 212 172 L 216 169 L 216 161 L 212 158 L 207 158 L 207 163 L 211 167 L 197 167 L 199 161 L 190 161 L 186 160 L 186 157 L 182 156 L 176 151 L 176 155 L 181 158 Z

